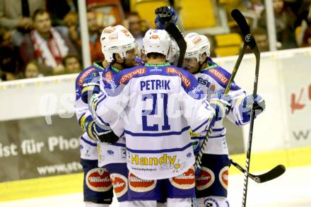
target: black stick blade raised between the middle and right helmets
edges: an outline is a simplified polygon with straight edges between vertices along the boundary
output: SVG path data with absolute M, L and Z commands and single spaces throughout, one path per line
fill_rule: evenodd
M 184 61 L 184 54 L 186 53 L 187 43 L 184 41 L 182 33 L 174 23 L 165 23 L 164 29 L 174 38 L 178 47 L 180 48 L 180 57 L 177 64 L 177 67 L 180 68 L 182 66 L 182 61 Z

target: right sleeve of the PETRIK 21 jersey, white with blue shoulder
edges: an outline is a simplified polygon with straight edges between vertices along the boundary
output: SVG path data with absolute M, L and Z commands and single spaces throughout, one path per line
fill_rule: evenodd
M 187 123 L 194 133 L 208 131 L 214 122 L 215 110 L 209 104 L 194 76 L 187 71 L 182 73 L 184 76 L 181 77 L 181 110 L 184 112 L 184 118 L 187 119 Z

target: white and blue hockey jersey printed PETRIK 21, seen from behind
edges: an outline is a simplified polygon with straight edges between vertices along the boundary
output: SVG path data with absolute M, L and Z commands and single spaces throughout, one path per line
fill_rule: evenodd
M 141 179 L 165 179 L 194 164 L 189 128 L 209 129 L 213 108 L 191 73 L 169 64 L 138 66 L 114 78 L 117 87 L 93 102 L 102 123 L 121 116 L 127 167 Z

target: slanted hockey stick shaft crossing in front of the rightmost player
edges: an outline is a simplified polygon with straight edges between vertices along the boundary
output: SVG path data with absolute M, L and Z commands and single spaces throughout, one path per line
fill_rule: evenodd
M 233 83 L 233 79 L 235 78 L 235 75 L 237 73 L 237 69 L 239 69 L 239 66 L 240 66 L 242 58 L 243 58 L 243 56 L 245 54 L 246 48 L 247 48 L 247 45 L 245 43 L 243 43 L 242 50 L 241 50 L 241 52 L 239 54 L 239 57 L 237 57 L 237 61 L 235 62 L 235 67 L 233 68 L 233 71 L 231 73 L 230 80 L 228 82 L 228 85 L 225 88 L 225 92 L 224 92 L 225 95 L 227 95 L 229 93 L 230 87 L 231 87 L 231 85 Z M 212 119 L 214 119 L 214 118 L 215 117 L 213 117 Z M 198 168 L 201 168 L 201 158 L 202 158 L 202 156 L 204 154 L 204 150 L 206 148 L 206 145 L 209 142 L 209 137 L 211 136 L 211 132 L 212 131 L 213 131 L 213 126 L 211 126 L 209 128 L 209 131 L 207 131 L 206 137 L 203 140 L 203 143 L 201 145 L 199 153 L 198 153 L 198 155 L 196 155 L 196 161 L 194 162 L 194 169 L 195 170 L 198 169 Z

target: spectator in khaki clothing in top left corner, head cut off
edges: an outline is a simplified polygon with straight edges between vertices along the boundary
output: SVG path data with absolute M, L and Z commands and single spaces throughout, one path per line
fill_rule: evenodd
M 12 42 L 19 47 L 25 33 L 30 32 L 30 16 L 45 9 L 45 0 L 0 0 L 0 26 L 12 31 Z

